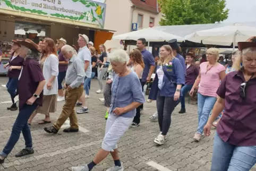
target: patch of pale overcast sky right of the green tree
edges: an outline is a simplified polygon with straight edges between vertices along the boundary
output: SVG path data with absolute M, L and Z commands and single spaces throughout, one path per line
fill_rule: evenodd
M 226 4 L 229 14 L 224 22 L 256 21 L 255 0 L 226 0 Z

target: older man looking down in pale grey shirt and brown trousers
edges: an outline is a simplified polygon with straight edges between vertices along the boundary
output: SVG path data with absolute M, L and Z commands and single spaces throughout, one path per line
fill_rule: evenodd
M 67 68 L 64 87 L 65 104 L 61 115 L 58 117 L 53 126 L 45 127 L 44 130 L 48 133 L 56 134 L 67 118 L 70 118 L 70 127 L 64 129 L 63 132 L 78 132 L 78 118 L 76 117 L 74 107 L 76 101 L 83 93 L 83 82 L 86 73 L 84 73 L 84 65 L 81 59 L 76 56 L 76 51 L 69 45 L 64 45 L 61 49 L 65 58 L 69 59 L 69 67 Z

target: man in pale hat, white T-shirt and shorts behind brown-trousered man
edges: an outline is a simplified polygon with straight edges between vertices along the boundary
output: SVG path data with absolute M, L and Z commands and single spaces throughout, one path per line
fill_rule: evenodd
M 86 72 L 86 78 L 84 79 L 84 89 L 88 86 L 89 81 L 91 80 L 91 52 L 88 49 L 87 45 L 89 44 L 89 38 L 86 35 L 80 35 L 78 39 L 78 57 L 84 62 L 84 72 Z M 86 97 L 85 93 L 79 98 L 79 102 L 76 106 L 82 106 L 81 109 L 76 110 L 77 114 L 88 113 L 89 110 L 86 106 Z

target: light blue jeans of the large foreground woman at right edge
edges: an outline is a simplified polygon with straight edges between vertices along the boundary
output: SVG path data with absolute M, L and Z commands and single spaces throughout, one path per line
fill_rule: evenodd
M 256 146 L 234 146 L 215 133 L 211 171 L 249 171 L 255 163 Z

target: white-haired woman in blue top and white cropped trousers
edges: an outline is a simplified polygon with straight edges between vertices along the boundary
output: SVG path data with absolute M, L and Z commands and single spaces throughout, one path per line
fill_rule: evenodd
M 129 129 L 136 114 L 136 108 L 143 104 L 144 95 L 135 72 L 126 67 L 128 55 L 122 49 L 109 54 L 110 63 L 115 72 L 112 84 L 112 99 L 106 123 L 106 132 L 102 147 L 95 158 L 85 166 L 72 167 L 73 171 L 90 171 L 111 153 L 115 166 L 110 170 L 123 171 L 118 157 L 117 142 Z

